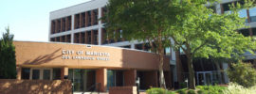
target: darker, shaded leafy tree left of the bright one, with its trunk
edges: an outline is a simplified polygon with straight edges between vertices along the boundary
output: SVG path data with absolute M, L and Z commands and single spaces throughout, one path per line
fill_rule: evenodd
M 121 35 L 127 40 L 149 42 L 159 57 L 159 82 L 165 86 L 163 74 L 164 49 L 170 46 L 167 29 L 174 22 L 172 0 L 109 0 L 103 20 L 111 38 Z M 121 29 L 120 34 L 113 32 Z

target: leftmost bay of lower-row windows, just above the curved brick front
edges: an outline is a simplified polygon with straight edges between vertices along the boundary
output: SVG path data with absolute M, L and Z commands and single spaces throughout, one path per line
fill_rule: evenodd
M 71 42 L 71 35 L 65 35 L 65 36 L 61 36 L 61 37 L 51 38 L 50 41 Z

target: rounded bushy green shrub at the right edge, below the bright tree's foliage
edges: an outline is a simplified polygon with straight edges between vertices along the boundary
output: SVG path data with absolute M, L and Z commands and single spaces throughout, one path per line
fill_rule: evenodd
M 237 83 L 240 86 L 250 87 L 256 85 L 256 70 L 250 63 L 239 62 L 232 64 L 228 70 L 230 82 Z

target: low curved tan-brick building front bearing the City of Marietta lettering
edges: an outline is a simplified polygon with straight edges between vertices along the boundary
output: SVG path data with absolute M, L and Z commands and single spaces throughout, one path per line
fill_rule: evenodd
M 52 42 L 14 41 L 17 78 L 64 80 L 73 83 L 75 92 L 88 92 L 110 86 L 158 86 L 157 55 L 137 50 Z M 141 56 L 143 55 L 143 56 Z M 172 86 L 169 57 L 164 58 L 167 87 Z

